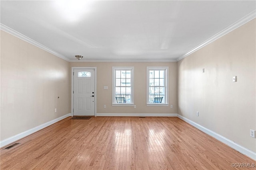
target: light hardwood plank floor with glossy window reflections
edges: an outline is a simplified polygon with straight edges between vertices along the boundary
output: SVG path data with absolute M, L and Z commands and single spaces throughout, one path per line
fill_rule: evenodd
M 1 149 L 1 170 L 235 170 L 256 162 L 177 117 L 70 117 Z

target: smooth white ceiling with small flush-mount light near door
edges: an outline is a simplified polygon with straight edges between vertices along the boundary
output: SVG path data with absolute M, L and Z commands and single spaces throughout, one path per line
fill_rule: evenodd
M 91 0 L 68 8 L 59 1 L 0 3 L 2 29 L 71 62 L 75 55 L 84 56 L 80 61 L 177 61 L 251 20 L 256 9 L 255 0 Z

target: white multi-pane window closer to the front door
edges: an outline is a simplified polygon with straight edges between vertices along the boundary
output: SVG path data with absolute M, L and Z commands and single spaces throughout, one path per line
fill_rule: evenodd
M 113 106 L 133 105 L 134 67 L 113 67 Z

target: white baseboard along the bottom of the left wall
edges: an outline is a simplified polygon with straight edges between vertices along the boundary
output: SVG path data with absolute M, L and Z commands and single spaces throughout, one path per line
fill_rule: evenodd
M 48 122 L 46 122 L 46 123 L 44 123 L 44 124 L 42 124 L 42 125 L 39 125 L 39 126 L 37 126 L 37 127 L 34 127 L 34 128 L 32 128 L 32 129 L 29 129 L 29 130 L 27 130 L 27 131 L 24 131 L 24 132 L 22 132 L 22 133 L 20 133 L 20 134 L 18 134 L 18 135 L 9 137 L 9 138 L 7 138 L 7 139 L 4 139 L 3 141 L 0 141 L 0 148 L 4 147 L 4 146 L 6 146 L 6 145 L 9 145 L 9 144 L 11 144 L 11 143 L 13 143 L 13 142 L 15 142 L 15 141 L 18 141 L 19 139 L 22 139 L 22 138 L 24 138 L 24 137 L 26 137 L 26 136 L 28 136 L 28 135 L 31 135 L 32 133 L 35 133 L 36 131 L 39 131 L 39 130 L 41 130 L 41 129 L 44 129 L 45 127 L 50 126 L 50 125 L 52 125 L 52 124 L 54 124 L 54 123 L 56 123 L 56 122 L 58 122 L 58 121 L 61 121 L 62 119 L 65 119 L 65 118 L 67 118 L 67 117 L 69 117 L 69 116 L 71 116 L 71 113 L 68 113 L 68 114 L 66 114 L 66 115 L 64 115 L 64 116 L 58 117 L 57 119 L 48 121 Z

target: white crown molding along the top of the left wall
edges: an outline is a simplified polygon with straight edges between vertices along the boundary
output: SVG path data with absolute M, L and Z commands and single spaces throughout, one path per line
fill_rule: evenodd
M 26 42 L 28 42 L 28 43 L 38 47 L 40 49 L 43 49 L 43 50 L 45 50 L 45 51 L 47 51 L 49 53 L 52 53 L 53 55 L 56 55 L 57 57 L 60 57 L 61 59 L 64 59 L 66 61 L 70 61 L 70 59 L 68 59 L 64 55 L 61 55 L 60 53 L 57 53 L 56 51 L 53 51 L 52 49 L 49 49 L 48 47 L 46 47 L 46 46 L 44 46 L 44 45 L 34 41 L 33 39 L 31 39 L 31 38 L 29 38 L 29 37 L 27 37 L 27 36 L 17 32 L 17 31 L 15 31 L 14 29 L 11 29 L 11 28 L 7 27 L 6 25 L 4 25 L 2 23 L 0 23 L 0 29 L 3 30 L 3 31 L 6 31 L 7 33 L 10 33 L 10 34 L 14 35 L 15 37 L 18 37 L 18 38 L 20 38 L 20 39 L 22 39 L 22 40 L 24 40 L 24 41 L 26 41 Z

